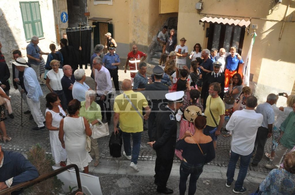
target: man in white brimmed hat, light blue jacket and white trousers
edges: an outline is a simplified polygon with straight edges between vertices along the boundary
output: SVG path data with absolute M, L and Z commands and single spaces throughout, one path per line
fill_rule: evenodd
M 24 58 L 17 58 L 13 64 L 18 71 L 24 72 L 24 92 L 27 95 L 27 103 L 33 115 L 35 123 L 38 125 L 33 131 L 45 129 L 45 118 L 40 110 L 40 97 L 43 95 L 39 85 L 36 72 L 26 64 Z

